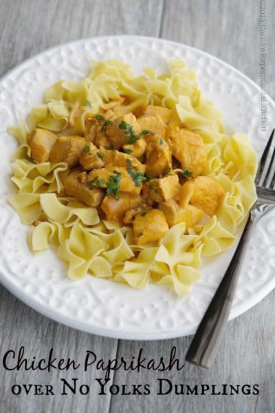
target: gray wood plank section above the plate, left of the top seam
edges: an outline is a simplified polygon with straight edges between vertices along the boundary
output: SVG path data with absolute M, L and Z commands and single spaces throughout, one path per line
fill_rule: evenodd
M 164 0 L 1 0 L 0 76 L 48 47 L 108 34 L 159 33 Z

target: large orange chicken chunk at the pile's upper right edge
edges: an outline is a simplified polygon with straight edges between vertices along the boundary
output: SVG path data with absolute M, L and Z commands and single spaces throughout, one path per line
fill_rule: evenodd
M 192 176 L 201 173 L 206 164 L 206 151 L 199 134 L 170 124 L 166 129 L 166 142 L 173 156 L 181 162 L 182 168 L 186 167 L 192 172 Z

